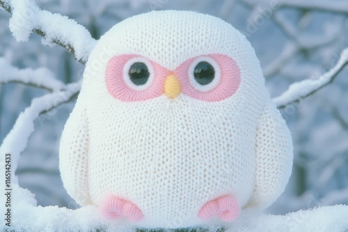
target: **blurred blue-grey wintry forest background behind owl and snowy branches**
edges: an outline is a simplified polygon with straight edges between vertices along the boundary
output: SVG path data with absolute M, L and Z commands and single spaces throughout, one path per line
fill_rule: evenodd
M 220 17 L 253 45 L 272 97 L 290 83 L 317 78 L 331 69 L 348 47 L 346 0 L 41 0 L 40 8 L 84 25 L 99 39 L 114 24 L 150 10 L 193 10 Z M 8 29 L 10 14 L 0 10 L 0 57 L 19 68 L 47 67 L 65 83 L 78 81 L 84 65 L 61 47 L 44 47 L 40 36 L 18 43 Z M 66 28 L 69 30 L 69 28 Z M 1 72 L 1 70 L 0 70 Z M 294 167 L 284 194 L 267 212 L 348 204 L 348 67 L 335 81 L 299 103 L 281 109 L 294 140 Z M 0 143 L 31 99 L 47 90 L 0 85 Z M 63 188 L 58 144 L 74 100 L 35 122 L 35 131 L 17 169 L 19 185 L 42 206 L 77 208 Z

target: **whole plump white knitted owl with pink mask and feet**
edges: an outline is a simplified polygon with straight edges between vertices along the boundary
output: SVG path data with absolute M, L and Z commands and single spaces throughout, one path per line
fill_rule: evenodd
M 153 11 L 113 26 L 90 53 L 60 169 L 78 204 L 115 222 L 195 226 L 274 202 L 292 139 L 242 33 Z

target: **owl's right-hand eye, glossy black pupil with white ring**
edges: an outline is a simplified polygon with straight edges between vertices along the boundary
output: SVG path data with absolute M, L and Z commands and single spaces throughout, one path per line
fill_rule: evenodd
M 200 56 L 193 60 L 188 69 L 189 82 L 199 92 L 209 92 L 221 81 L 221 69 L 210 56 Z

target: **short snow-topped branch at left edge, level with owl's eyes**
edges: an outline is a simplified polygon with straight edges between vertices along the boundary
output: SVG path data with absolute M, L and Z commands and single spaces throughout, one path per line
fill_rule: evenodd
M 5 58 L 0 58 L 0 84 L 24 83 L 50 91 L 65 89 L 65 84 L 55 78 L 55 75 L 47 68 L 18 69 L 13 67 Z

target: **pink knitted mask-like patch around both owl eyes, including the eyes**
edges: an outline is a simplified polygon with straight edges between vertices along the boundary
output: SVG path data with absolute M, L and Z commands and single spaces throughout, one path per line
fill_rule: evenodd
M 166 78 L 174 74 L 183 94 L 201 101 L 221 101 L 234 94 L 240 83 L 235 60 L 221 54 L 197 56 L 171 71 L 138 55 L 109 60 L 106 86 L 121 101 L 145 101 L 164 94 Z

